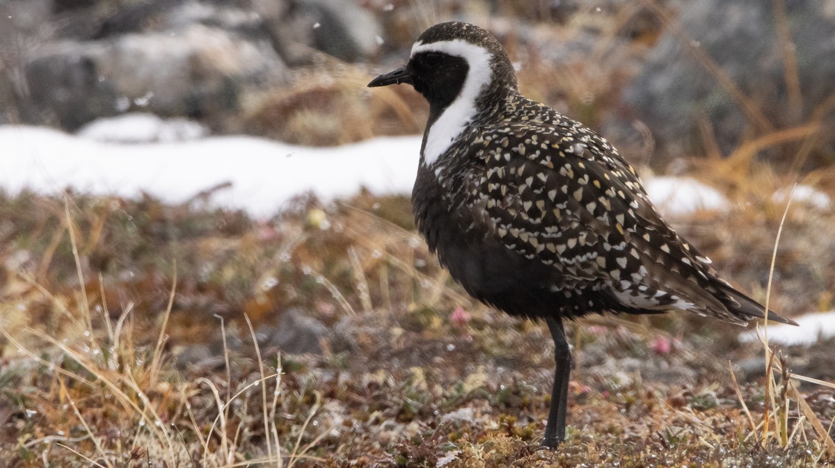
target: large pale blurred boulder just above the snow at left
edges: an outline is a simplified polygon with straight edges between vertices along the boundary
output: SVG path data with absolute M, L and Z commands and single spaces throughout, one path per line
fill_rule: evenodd
M 40 117 L 75 130 L 129 110 L 217 122 L 237 110 L 247 84 L 284 71 L 268 45 L 193 24 L 177 32 L 53 44 L 28 63 L 26 77 Z

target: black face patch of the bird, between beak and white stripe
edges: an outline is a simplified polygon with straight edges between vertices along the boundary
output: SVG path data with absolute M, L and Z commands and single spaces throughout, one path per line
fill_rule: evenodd
M 437 52 L 415 54 L 406 68 L 412 76 L 412 86 L 423 94 L 431 108 L 438 109 L 446 108 L 458 97 L 469 71 L 463 58 Z

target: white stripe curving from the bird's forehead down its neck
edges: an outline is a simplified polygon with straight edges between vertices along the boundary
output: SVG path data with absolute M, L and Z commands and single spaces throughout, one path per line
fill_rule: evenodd
M 487 49 L 460 39 L 424 44 L 417 41 L 412 46 L 412 57 L 416 53 L 438 52 L 463 58 L 469 70 L 464 79 L 461 93 L 443 110 L 426 138 L 423 148 L 423 162 L 431 166 L 453 144 L 476 113 L 475 101 L 482 89 L 493 80 L 490 61 L 493 55 Z

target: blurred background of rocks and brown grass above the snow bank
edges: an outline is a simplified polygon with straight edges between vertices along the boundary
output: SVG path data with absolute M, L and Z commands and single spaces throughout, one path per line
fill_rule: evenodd
M 4 0 L 0 123 L 152 113 L 315 146 L 421 133 L 416 93 L 363 86 L 452 19 L 495 33 L 524 93 L 635 164 L 751 142 L 792 169 L 835 158 L 832 0 Z

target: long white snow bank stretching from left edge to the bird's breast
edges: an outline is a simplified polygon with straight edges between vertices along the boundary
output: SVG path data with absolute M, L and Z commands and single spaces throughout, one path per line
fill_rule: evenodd
M 361 186 L 405 194 L 417 173 L 418 137 L 377 138 L 337 148 L 306 148 L 263 138 L 218 137 L 181 143 L 116 144 L 48 128 L 0 127 L 0 188 L 135 197 L 181 203 L 202 190 L 215 206 L 268 216 L 293 196 L 347 197 Z

